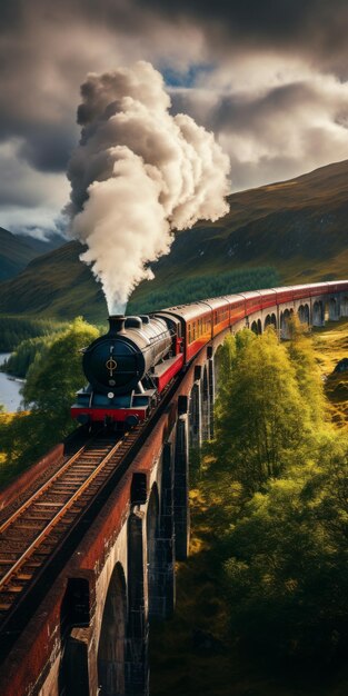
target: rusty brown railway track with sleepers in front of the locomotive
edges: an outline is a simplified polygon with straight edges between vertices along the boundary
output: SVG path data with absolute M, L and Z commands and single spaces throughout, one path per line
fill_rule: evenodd
M 141 428 L 95 437 L 0 525 L 0 630 L 115 475 Z

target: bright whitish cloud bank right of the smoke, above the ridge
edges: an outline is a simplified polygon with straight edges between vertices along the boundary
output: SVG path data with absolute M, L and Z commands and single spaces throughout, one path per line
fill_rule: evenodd
M 172 109 L 189 110 L 220 135 L 235 190 L 348 157 L 348 86 L 332 76 L 230 93 L 180 90 Z

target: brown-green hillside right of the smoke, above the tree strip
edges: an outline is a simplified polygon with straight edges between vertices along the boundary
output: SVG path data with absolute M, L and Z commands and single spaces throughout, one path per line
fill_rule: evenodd
M 146 298 L 178 278 L 272 266 L 285 284 L 347 275 L 348 161 L 280 183 L 233 193 L 230 211 L 215 225 L 181 232 L 156 278 L 135 298 Z

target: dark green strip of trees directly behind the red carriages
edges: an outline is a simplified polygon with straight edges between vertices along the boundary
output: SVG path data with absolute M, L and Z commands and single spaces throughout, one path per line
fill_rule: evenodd
M 198 301 L 208 297 L 232 295 L 241 290 L 277 287 L 279 282 L 279 274 L 269 266 L 193 276 L 182 278 L 179 284 L 176 280 L 171 285 L 166 285 L 166 289 L 161 289 L 158 292 L 149 290 L 146 300 L 131 299 L 127 311 L 128 314 L 143 314 L 162 309 L 163 307 Z

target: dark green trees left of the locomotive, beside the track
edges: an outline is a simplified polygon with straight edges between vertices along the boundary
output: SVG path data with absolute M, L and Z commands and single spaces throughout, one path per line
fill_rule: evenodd
M 37 352 L 22 390 L 30 412 L 0 424 L 0 449 L 12 473 L 34 461 L 76 427 L 70 406 L 86 381 L 80 350 L 98 336 L 96 327 L 78 318 Z

